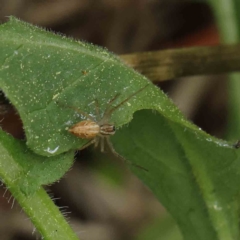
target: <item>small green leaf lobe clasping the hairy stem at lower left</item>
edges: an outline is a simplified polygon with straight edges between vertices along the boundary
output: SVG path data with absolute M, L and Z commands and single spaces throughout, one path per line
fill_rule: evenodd
M 33 153 L 23 141 L 15 140 L 2 130 L 0 144 L 2 180 L 6 184 L 9 181 L 15 182 L 26 195 L 35 193 L 42 185 L 57 181 L 73 163 L 73 151 L 51 158 L 43 157 Z M 5 157 L 5 152 L 6 156 L 11 157 Z

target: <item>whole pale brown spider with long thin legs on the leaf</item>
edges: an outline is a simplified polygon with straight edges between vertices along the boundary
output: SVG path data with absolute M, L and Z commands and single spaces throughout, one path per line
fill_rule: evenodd
M 145 85 L 144 87 L 140 88 L 139 90 L 137 90 L 136 92 L 134 92 L 133 94 L 131 94 L 129 97 L 127 97 L 125 100 L 123 100 L 122 102 L 120 102 L 119 104 L 117 104 L 116 106 L 112 106 L 112 103 L 120 96 L 120 94 L 116 94 L 115 97 L 113 97 L 107 104 L 107 108 L 103 113 L 103 116 L 101 119 L 99 119 L 99 105 L 98 105 L 98 101 L 95 100 L 95 104 L 96 104 L 96 120 L 90 116 L 89 114 L 70 107 L 72 109 L 74 109 L 76 112 L 80 113 L 81 115 L 85 116 L 87 120 L 83 120 L 80 121 L 76 124 L 74 124 L 72 127 L 70 127 L 68 129 L 68 131 L 70 133 L 72 133 L 73 135 L 80 137 L 82 139 L 91 139 L 89 142 L 87 142 L 83 147 L 81 147 L 79 150 L 82 150 L 88 146 L 90 146 L 91 144 L 94 144 L 94 147 L 97 147 L 100 143 L 101 146 L 101 152 L 104 151 L 104 140 L 106 140 L 107 145 L 109 146 L 110 150 L 112 151 L 112 153 L 114 155 L 116 155 L 117 157 L 122 158 L 124 161 L 126 161 L 126 159 L 124 159 L 122 156 L 120 156 L 115 149 L 113 148 L 109 137 L 115 134 L 115 126 L 111 123 L 109 123 L 110 118 L 112 113 L 117 110 L 120 106 L 122 106 L 124 103 L 126 103 L 129 99 L 131 99 L 133 96 L 137 95 L 138 93 L 140 93 L 141 91 L 143 91 L 146 87 L 148 87 L 150 84 Z M 140 167 L 142 169 L 144 169 L 141 166 L 135 165 L 137 167 Z M 146 170 L 146 169 L 144 169 Z

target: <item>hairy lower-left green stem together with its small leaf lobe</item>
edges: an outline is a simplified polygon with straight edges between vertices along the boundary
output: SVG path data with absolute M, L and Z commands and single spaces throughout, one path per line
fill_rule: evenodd
M 66 171 L 65 168 L 69 168 L 73 154 L 69 152 L 48 159 L 32 153 L 23 142 L 3 131 L 0 131 L 0 152 L 1 181 L 44 238 L 77 239 L 59 209 L 40 186 L 58 179 Z M 41 163 L 45 168 L 39 168 Z M 53 172 L 50 167 L 57 171 Z

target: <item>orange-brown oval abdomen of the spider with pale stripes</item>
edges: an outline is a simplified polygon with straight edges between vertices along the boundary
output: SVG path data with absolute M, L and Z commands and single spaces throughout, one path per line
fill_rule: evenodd
M 84 139 L 95 138 L 100 132 L 100 126 L 91 120 L 81 121 L 73 125 L 68 131 Z

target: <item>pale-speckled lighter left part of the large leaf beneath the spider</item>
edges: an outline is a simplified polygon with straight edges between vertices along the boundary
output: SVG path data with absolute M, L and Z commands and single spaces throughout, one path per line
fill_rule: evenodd
M 148 82 L 116 56 L 93 45 L 53 35 L 15 18 L 0 27 L 0 87 L 18 110 L 28 146 L 53 156 L 86 143 L 66 128 L 81 116 L 70 107 L 95 115 L 117 93 L 116 103 Z M 66 107 L 63 107 L 66 106 Z M 151 86 L 113 113 L 119 127 L 138 109 L 155 108 L 166 115 L 178 113 L 165 95 Z M 179 113 L 178 113 L 179 114 Z M 179 114 L 178 121 L 183 121 Z

